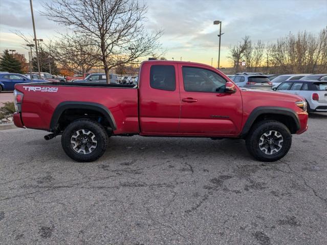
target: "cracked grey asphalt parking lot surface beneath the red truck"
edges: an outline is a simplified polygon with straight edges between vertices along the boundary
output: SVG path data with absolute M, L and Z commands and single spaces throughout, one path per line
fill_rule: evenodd
M 311 115 L 275 163 L 242 140 L 112 137 L 83 164 L 0 131 L 0 243 L 327 244 L 326 125 Z

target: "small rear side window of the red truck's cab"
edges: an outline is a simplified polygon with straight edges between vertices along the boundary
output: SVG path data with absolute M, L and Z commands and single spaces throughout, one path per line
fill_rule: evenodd
M 173 65 L 151 65 L 150 87 L 157 90 L 175 91 L 175 67 Z

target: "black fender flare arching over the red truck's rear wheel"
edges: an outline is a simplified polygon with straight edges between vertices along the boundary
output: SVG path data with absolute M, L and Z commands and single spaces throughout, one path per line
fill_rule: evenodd
M 62 113 L 67 109 L 91 109 L 103 114 L 113 130 L 117 129 L 117 125 L 114 119 L 114 116 L 110 110 L 102 104 L 94 102 L 84 102 L 84 101 L 65 101 L 58 104 L 56 109 L 53 112 L 51 122 L 50 122 L 50 131 L 54 131 L 58 124 L 59 118 Z

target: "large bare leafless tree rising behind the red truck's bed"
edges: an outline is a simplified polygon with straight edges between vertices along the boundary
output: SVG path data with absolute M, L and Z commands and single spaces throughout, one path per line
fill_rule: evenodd
M 145 4 L 138 0 L 54 0 L 43 13 L 56 23 L 87 36 L 100 50 L 107 83 L 109 70 L 154 53 L 161 32 L 149 34 L 144 27 Z

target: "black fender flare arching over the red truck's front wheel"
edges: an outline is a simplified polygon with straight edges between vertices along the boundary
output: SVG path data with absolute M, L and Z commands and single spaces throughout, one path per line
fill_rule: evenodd
M 296 131 L 300 129 L 300 121 L 296 112 L 290 108 L 279 107 L 279 106 L 258 106 L 252 110 L 250 116 L 248 117 L 246 123 L 241 132 L 241 137 L 244 137 L 252 127 L 254 121 L 263 114 L 277 114 L 290 116 L 295 122 Z

